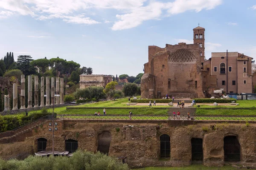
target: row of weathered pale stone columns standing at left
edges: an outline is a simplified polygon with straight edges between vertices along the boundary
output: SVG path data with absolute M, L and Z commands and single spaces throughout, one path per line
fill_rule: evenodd
M 61 82 L 60 82 L 61 80 Z M 38 76 L 35 76 L 34 79 L 35 85 L 35 106 L 34 108 L 39 107 L 38 103 Z M 61 84 L 61 88 L 60 88 Z M 55 78 L 52 77 L 52 84 L 51 84 L 51 94 L 52 97 L 55 97 L 56 94 L 60 96 L 56 96 L 55 105 L 64 104 L 64 78 L 56 78 L 56 89 L 55 89 Z M 44 107 L 44 77 L 41 77 L 41 103 L 40 107 Z M 9 111 L 9 95 L 4 96 L 4 111 Z M 20 91 L 20 109 L 25 109 L 25 75 L 21 75 L 21 91 Z M 50 105 L 50 82 L 49 77 L 46 77 L 46 106 Z M 53 105 L 53 102 L 52 104 Z M 28 107 L 32 108 L 32 77 L 28 76 Z M 18 109 L 18 86 L 16 83 L 13 84 L 13 108 L 12 110 Z

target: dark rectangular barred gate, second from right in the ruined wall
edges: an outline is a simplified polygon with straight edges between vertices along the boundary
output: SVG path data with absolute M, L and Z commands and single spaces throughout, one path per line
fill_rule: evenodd
M 203 139 L 192 138 L 191 139 L 192 161 L 203 161 Z

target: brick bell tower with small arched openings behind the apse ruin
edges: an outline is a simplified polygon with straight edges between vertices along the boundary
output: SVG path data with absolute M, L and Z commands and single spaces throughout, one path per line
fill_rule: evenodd
M 205 29 L 203 27 L 199 26 L 193 29 L 194 32 L 194 44 L 198 44 L 200 48 L 200 56 L 201 56 L 201 62 L 204 62 L 204 31 Z

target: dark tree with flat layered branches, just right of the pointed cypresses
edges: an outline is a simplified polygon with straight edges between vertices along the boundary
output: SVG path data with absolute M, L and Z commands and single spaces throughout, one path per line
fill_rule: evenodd
M 30 65 L 32 61 L 31 56 L 18 56 L 16 68 L 22 71 L 25 76 L 35 74 L 35 68 Z

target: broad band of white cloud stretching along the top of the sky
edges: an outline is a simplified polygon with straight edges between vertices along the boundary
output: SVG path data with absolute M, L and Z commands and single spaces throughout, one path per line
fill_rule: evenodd
M 98 24 L 100 22 L 88 17 L 89 14 L 84 14 L 87 9 L 90 9 L 90 16 L 94 13 L 91 9 L 116 9 L 121 14 L 116 14 L 112 30 L 122 30 L 185 11 L 209 10 L 221 3 L 222 0 L 174 0 L 171 3 L 160 0 L 2 0 L 0 10 L 31 15 L 38 20 L 59 18 L 67 23 Z M 164 14 L 166 12 L 168 15 Z M 2 14 L 0 18 L 10 15 Z M 105 20 L 105 23 L 109 22 Z

